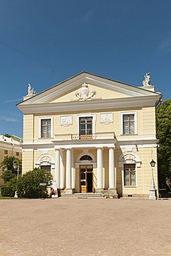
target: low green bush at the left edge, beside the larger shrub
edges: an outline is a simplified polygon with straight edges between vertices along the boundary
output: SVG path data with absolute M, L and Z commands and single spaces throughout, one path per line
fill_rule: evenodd
M 17 177 L 10 179 L 10 181 L 6 182 L 6 184 L 1 187 L 1 195 L 13 197 L 15 190 L 17 190 Z

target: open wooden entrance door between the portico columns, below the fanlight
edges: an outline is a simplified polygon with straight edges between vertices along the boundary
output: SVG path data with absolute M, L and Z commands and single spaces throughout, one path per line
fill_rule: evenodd
M 92 165 L 80 166 L 80 192 L 93 192 L 93 172 Z

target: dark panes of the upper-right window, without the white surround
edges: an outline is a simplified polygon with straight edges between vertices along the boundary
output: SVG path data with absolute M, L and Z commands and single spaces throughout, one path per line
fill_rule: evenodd
M 123 134 L 134 134 L 134 114 L 123 115 Z

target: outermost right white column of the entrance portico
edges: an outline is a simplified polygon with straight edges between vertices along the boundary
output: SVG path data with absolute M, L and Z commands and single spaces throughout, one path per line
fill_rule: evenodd
M 109 148 L 109 189 L 115 189 L 114 147 Z

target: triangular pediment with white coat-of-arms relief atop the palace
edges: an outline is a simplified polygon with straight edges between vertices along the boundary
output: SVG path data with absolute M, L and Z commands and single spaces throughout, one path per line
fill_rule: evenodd
M 85 85 L 84 89 L 83 84 Z M 100 77 L 99 75 L 81 72 L 19 103 L 18 106 L 26 104 L 55 104 L 74 101 L 137 98 L 154 95 L 159 95 L 159 93 Z

